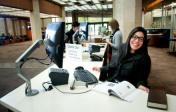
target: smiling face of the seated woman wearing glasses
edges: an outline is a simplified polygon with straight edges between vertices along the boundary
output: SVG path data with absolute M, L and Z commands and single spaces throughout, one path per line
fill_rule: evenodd
M 131 53 L 135 53 L 136 50 L 142 47 L 144 42 L 143 32 L 136 32 L 130 39 Z

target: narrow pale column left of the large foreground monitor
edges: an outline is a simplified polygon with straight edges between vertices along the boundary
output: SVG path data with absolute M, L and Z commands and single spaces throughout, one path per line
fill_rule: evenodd
M 30 12 L 30 22 L 32 30 L 32 41 L 42 38 L 39 0 L 32 0 L 33 11 Z

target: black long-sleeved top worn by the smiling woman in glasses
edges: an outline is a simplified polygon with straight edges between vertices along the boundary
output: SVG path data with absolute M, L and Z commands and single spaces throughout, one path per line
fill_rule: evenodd
M 102 72 L 113 73 L 109 81 L 129 81 L 134 86 L 147 86 L 147 79 L 150 73 L 151 60 L 147 53 L 128 53 L 125 44 L 119 48 L 117 61 L 101 68 Z M 123 58 L 121 58 L 123 57 Z

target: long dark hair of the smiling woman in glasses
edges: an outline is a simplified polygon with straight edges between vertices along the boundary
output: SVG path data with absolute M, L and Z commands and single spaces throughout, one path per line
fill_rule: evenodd
M 136 52 L 138 53 L 148 53 L 148 50 L 147 50 L 147 31 L 141 27 L 141 26 L 138 26 L 138 27 L 135 27 L 129 34 L 128 36 L 128 39 L 126 41 L 126 44 L 127 44 L 127 53 L 130 52 L 130 39 L 134 36 L 134 34 L 136 32 L 142 32 L 144 34 L 144 41 L 143 41 L 143 45 L 141 46 L 141 48 L 139 48 Z

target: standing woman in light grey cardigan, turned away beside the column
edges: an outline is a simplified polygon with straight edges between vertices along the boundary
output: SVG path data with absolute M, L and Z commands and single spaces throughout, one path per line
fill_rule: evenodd
M 114 61 L 113 57 L 116 57 L 117 50 L 122 44 L 122 32 L 119 29 L 119 23 L 116 19 L 112 19 L 109 22 L 109 26 L 112 30 L 112 35 L 110 36 L 110 41 L 106 41 L 109 44 L 109 60 Z

